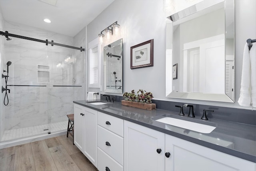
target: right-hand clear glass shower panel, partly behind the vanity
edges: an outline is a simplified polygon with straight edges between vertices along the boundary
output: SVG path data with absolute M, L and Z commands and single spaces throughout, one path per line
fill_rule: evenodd
M 84 99 L 84 52 L 61 46 L 48 46 L 51 68 L 48 94 L 48 121 L 51 133 L 66 131 L 73 101 Z

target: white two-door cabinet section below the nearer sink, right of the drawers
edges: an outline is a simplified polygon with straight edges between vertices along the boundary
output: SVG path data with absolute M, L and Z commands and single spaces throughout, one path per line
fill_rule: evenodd
M 124 171 L 256 171 L 256 163 L 129 121 L 124 121 L 124 166 Z

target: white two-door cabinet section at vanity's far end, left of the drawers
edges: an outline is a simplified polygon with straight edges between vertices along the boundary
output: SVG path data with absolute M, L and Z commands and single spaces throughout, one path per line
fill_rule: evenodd
M 74 144 L 97 167 L 97 111 L 74 104 Z

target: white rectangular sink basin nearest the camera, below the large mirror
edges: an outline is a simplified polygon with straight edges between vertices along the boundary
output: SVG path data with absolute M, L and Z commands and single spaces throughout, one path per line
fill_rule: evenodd
M 176 119 L 176 118 L 172 118 L 172 117 L 163 117 L 161 119 L 156 119 L 156 121 L 166 123 L 169 125 L 173 125 L 176 127 L 182 127 L 184 129 L 190 129 L 192 131 L 197 131 L 200 133 L 211 133 L 216 128 L 214 126 L 205 125 L 202 123 L 185 121 L 185 120 Z

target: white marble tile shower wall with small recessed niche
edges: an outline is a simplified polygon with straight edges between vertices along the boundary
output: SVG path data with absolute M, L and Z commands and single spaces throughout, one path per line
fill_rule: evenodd
M 17 23 L 5 22 L 4 31 L 9 33 L 37 38 L 54 40 L 56 43 L 74 45 L 74 38 Z M 80 51 L 79 51 L 80 52 Z M 84 68 L 83 54 L 60 46 L 46 46 L 43 43 L 12 38 L 4 40 L 2 62 L 11 61 L 9 67 L 8 85 L 46 85 L 9 86 L 9 105 L 4 106 L 4 129 L 17 129 L 34 125 L 66 121 L 66 114 L 73 113 L 75 99 L 83 99 L 84 72 L 76 72 Z M 70 57 L 70 60 L 67 58 Z M 66 61 L 65 61 L 66 60 Z M 44 74 L 40 82 L 37 65 L 50 66 L 49 79 Z M 82 66 L 81 66 L 82 65 Z M 43 72 L 49 73 L 49 72 Z M 75 74 L 76 73 L 76 74 Z M 76 75 L 76 76 L 74 76 Z M 78 78 L 81 78 L 80 81 Z M 82 87 L 55 87 L 53 85 L 82 85 Z M 81 97 L 74 97 L 74 94 Z

